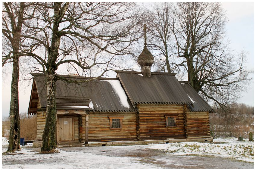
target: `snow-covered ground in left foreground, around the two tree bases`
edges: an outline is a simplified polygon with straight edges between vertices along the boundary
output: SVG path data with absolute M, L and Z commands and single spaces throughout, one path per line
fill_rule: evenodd
M 2 138 L 2 145 L 8 145 L 8 140 Z M 161 169 L 161 167 L 152 164 L 139 162 L 139 157 L 109 157 L 104 155 L 91 154 L 86 152 L 71 152 L 58 149 L 59 153 L 55 154 L 39 154 L 31 148 L 27 148 L 31 144 L 21 146 L 20 151 L 15 153 L 6 153 L 2 155 L 5 161 L 22 160 L 27 161 L 27 164 L 18 164 L 20 162 L 4 163 L 4 169 Z M 7 148 L 2 149 L 2 153 L 6 152 Z M 11 154 L 11 155 L 8 155 Z M 17 157 L 17 154 L 22 156 Z M 31 164 L 31 161 L 36 161 Z

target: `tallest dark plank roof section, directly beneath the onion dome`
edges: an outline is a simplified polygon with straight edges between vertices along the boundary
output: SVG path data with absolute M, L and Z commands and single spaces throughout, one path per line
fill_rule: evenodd
M 176 73 L 151 73 L 116 71 L 130 101 L 133 104 L 192 104 L 176 79 Z

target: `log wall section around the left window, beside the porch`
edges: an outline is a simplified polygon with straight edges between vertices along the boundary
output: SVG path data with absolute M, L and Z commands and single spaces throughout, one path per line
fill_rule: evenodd
M 110 119 L 108 116 L 123 117 L 122 129 L 110 129 Z M 134 141 L 136 137 L 135 112 L 89 113 L 89 142 Z

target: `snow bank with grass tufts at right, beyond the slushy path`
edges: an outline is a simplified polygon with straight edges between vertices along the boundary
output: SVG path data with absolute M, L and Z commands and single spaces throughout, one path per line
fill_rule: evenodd
M 216 138 L 215 144 L 181 142 L 173 144 L 151 144 L 151 149 L 159 149 L 172 155 L 211 155 L 231 157 L 237 160 L 254 162 L 254 141 L 238 141 L 238 138 Z

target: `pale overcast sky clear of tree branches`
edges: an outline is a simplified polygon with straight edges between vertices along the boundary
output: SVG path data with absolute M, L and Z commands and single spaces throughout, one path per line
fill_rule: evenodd
M 234 52 L 241 52 L 243 49 L 248 52 L 247 69 L 254 70 L 251 74 L 253 81 L 248 83 L 248 91 L 241 92 L 243 97 L 239 102 L 254 106 L 254 79 L 255 79 L 255 2 L 222 2 L 222 6 L 226 9 L 229 22 L 226 25 L 226 36 L 232 41 L 230 48 Z M 11 68 L 9 68 L 11 69 Z M 2 72 L 2 68 L 1 68 Z M 114 74 L 111 75 L 115 77 Z M 2 77 L 1 73 L 1 117 L 9 116 L 10 94 L 11 94 L 11 74 Z M 27 112 L 30 100 L 31 84 L 25 86 L 19 83 L 19 105 L 20 112 Z

